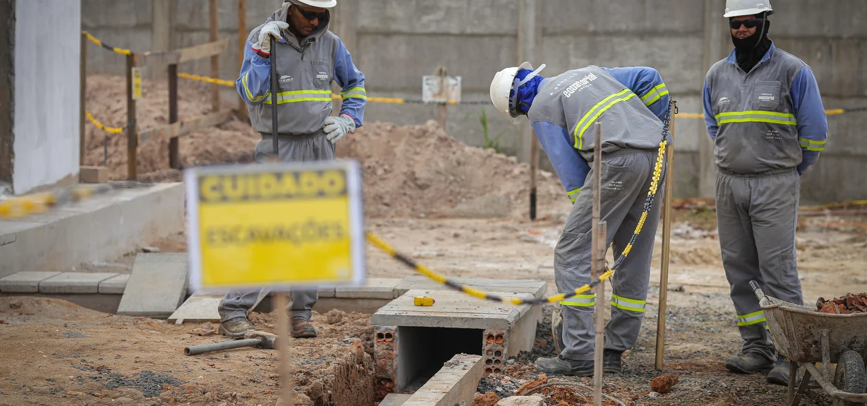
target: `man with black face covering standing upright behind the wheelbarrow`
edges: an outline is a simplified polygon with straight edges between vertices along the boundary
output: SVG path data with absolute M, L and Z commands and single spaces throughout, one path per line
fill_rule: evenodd
M 707 72 L 703 102 L 722 264 L 744 340 L 726 368 L 786 385 L 789 362 L 774 350 L 749 282 L 803 303 L 795 259 L 800 176 L 825 147 L 828 123 L 812 69 L 768 39 L 772 13 L 769 0 L 727 1 L 734 49 Z

